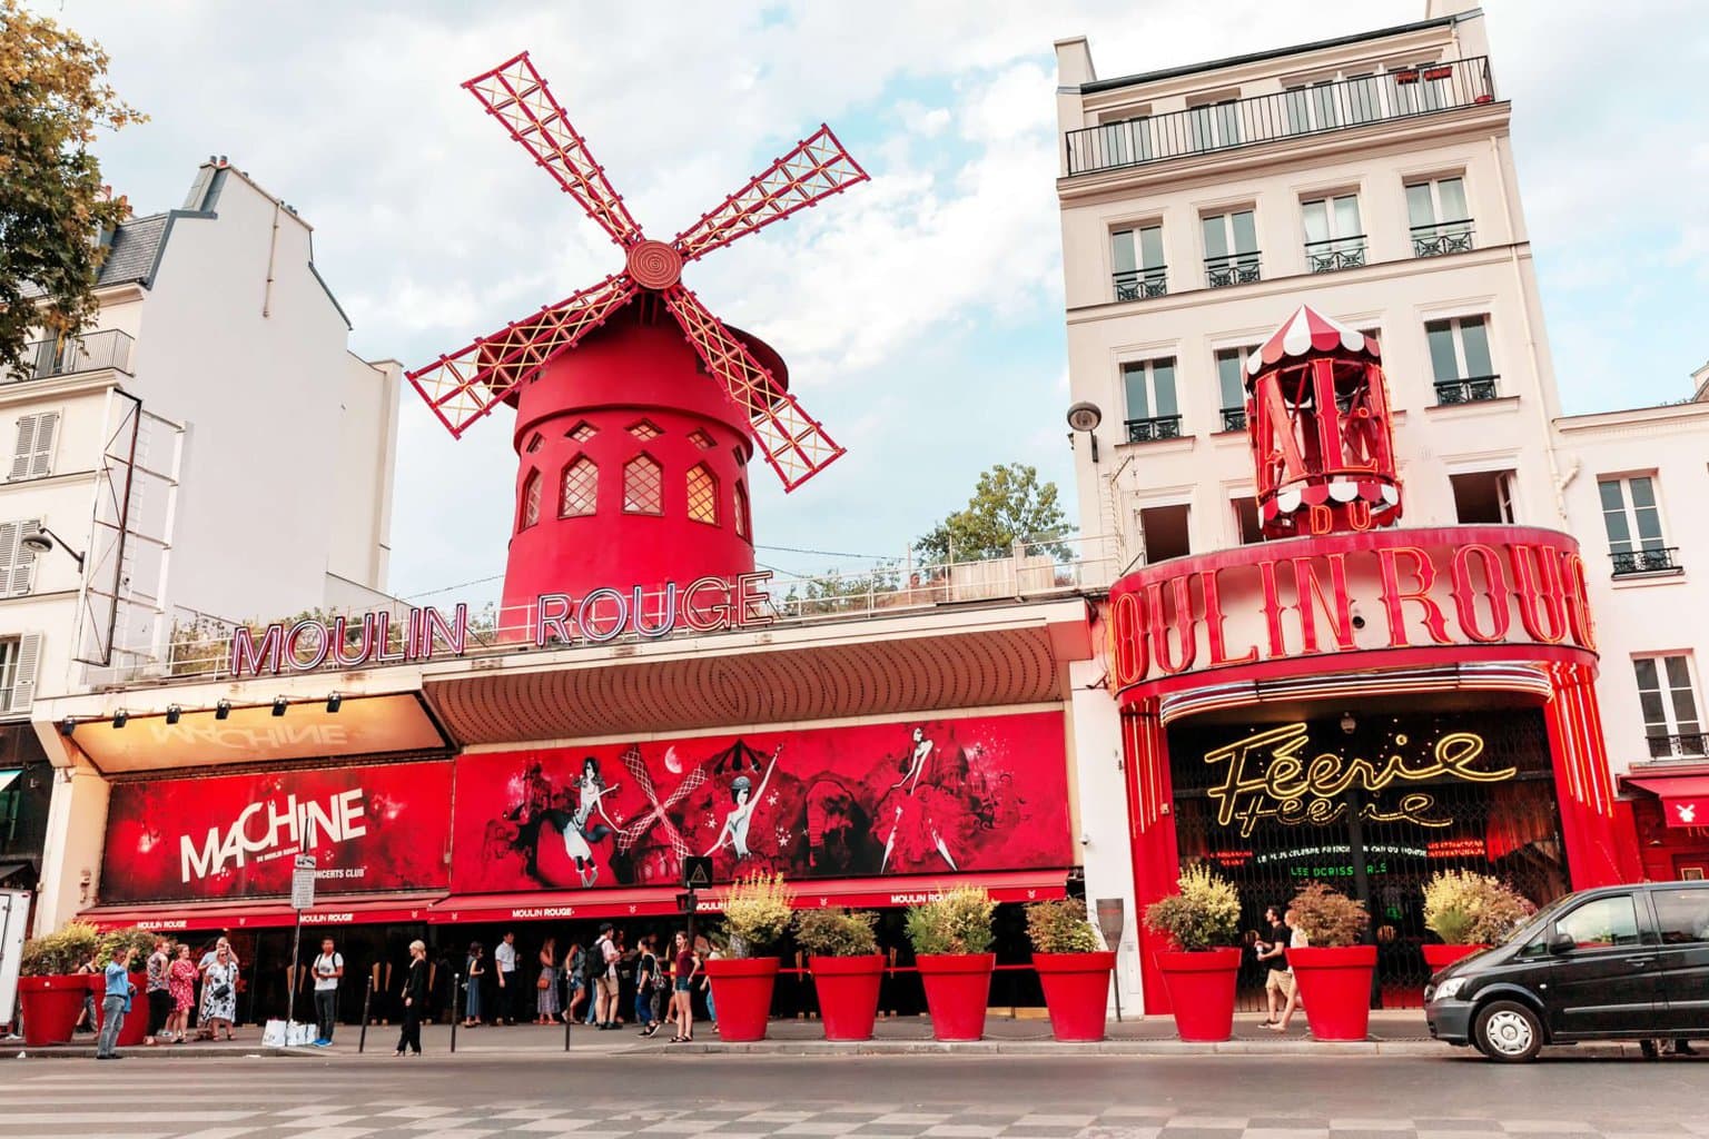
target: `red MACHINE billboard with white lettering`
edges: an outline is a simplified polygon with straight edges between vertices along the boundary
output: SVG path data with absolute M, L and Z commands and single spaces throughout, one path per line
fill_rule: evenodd
M 294 856 L 316 893 L 446 885 L 451 763 L 159 779 L 113 786 L 101 900 L 291 893 Z

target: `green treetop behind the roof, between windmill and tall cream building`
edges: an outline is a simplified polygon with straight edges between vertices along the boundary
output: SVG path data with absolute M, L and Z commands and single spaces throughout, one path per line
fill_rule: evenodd
M 966 509 L 955 511 L 914 543 L 926 565 L 1007 558 L 1015 543 L 1032 552 L 1068 557 L 1063 536 L 1072 531 L 1056 504 L 1056 483 L 1041 483 L 1039 468 L 998 463 L 979 475 Z

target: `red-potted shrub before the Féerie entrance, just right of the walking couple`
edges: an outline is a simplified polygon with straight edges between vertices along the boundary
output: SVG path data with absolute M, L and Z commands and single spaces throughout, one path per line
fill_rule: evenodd
M 1306 1021 L 1318 1040 L 1364 1040 L 1371 1030 L 1371 973 L 1377 948 L 1359 944 L 1371 924 L 1365 907 L 1323 883 L 1309 883 L 1289 905 L 1306 948 L 1289 949 Z

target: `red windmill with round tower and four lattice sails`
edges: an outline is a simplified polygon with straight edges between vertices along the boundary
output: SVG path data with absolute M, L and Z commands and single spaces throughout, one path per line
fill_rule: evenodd
M 516 408 L 504 623 L 549 593 L 752 572 L 754 446 L 786 490 L 843 447 L 790 394 L 783 359 L 713 316 L 682 266 L 866 172 L 820 126 L 668 244 L 649 241 L 526 51 L 463 87 L 625 256 L 605 280 L 408 376 L 453 435 L 499 403 Z

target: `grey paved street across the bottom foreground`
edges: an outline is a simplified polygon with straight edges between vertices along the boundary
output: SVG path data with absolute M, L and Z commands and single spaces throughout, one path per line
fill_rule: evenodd
M 0 1139 L 1709 1136 L 1704 1060 L 520 1057 L 21 1060 Z

